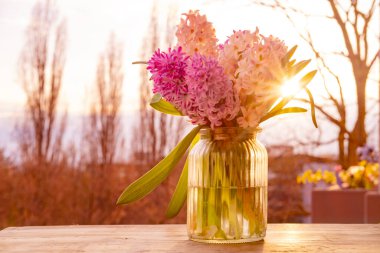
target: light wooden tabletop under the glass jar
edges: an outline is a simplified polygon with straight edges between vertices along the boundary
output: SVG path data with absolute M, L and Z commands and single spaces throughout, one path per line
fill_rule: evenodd
M 0 252 L 380 252 L 380 225 L 269 224 L 264 241 L 189 241 L 185 225 L 11 227 Z

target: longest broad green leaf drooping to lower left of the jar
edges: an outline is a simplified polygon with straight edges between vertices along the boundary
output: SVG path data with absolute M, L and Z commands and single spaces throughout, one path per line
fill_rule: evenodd
M 183 154 L 185 154 L 200 128 L 201 126 L 197 126 L 191 130 L 164 159 L 130 184 L 120 195 L 117 204 L 128 204 L 139 200 L 157 188 L 168 177 Z

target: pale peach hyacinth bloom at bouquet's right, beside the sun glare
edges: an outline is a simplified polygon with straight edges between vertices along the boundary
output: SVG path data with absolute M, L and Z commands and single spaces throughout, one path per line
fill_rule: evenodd
M 237 62 L 235 90 L 241 101 L 249 102 L 241 105 L 239 126 L 256 127 L 281 95 L 278 91 L 285 75 L 281 60 L 286 52 L 283 41 L 262 35 L 257 43 L 242 52 Z

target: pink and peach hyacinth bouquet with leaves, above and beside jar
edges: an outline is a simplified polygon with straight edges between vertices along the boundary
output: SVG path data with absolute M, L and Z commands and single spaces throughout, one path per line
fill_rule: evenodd
M 212 24 L 198 11 L 184 14 L 176 36 L 175 47 L 157 49 L 149 61 L 136 63 L 147 64 L 151 73 L 151 106 L 162 113 L 187 116 L 197 126 L 161 162 L 128 186 L 118 204 L 144 197 L 165 180 L 198 141 L 202 127 L 257 128 L 273 116 L 306 111 L 286 107 L 296 93 L 281 93 L 282 85 L 310 62 L 291 59 L 296 46 L 288 49 L 282 40 L 262 35 L 257 28 L 234 31 L 218 43 Z M 315 74 L 315 70 L 308 72 L 296 88 L 306 91 L 316 125 L 313 97 L 306 87 Z M 186 178 L 185 173 L 180 177 L 168 216 L 177 214 L 186 199 Z

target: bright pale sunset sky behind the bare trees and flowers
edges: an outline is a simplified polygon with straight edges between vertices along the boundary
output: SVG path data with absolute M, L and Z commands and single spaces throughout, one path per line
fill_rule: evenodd
M 99 53 L 105 48 L 110 32 L 114 32 L 123 43 L 125 52 L 122 111 L 126 115 L 133 114 L 138 108 L 139 67 L 132 65 L 131 62 L 146 60 L 140 59 L 139 55 L 142 40 L 147 33 L 153 0 L 59 0 L 56 2 L 60 15 L 67 20 L 68 26 L 67 62 L 60 108 L 68 108 L 71 115 L 85 113 L 86 99 L 88 99 L 86 95 L 93 89 Z M 178 10 L 178 20 L 179 14 L 189 9 L 198 9 L 214 24 L 220 41 L 224 41 L 234 29 L 254 30 L 258 26 L 262 34 L 273 34 L 283 39 L 289 47 L 298 44 L 296 58 L 312 58 L 312 52 L 283 15 L 271 9 L 254 6 L 250 1 L 160 0 L 157 2 L 162 22 L 165 21 L 169 8 Z M 292 2 L 307 12 L 329 14 L 327 1 L 295 0 Z M 25 29 L 34 3 L 34 0 L 0 0 L 0 125 L 4 124 L 5 118 L 17 117 L 22 112 L 24 94 L 17 78 L 17 61 L 24 45 Z M 376 15 L 378 17 L 379 14 L 376 13 Z M 322 52 L 341 51 L 344 48 L 338 27 L 330 20 L 320 17 L 311 18 L 307 22 L 301 18 L 297 20 L 299 28 L 309 29 L 315 35 L 315 43 Z M 375 37 L 375 34 L 379 34 L 379 27 L 374 24 L 370 29 L 374 35 L 370 41 L 370 47 L 372 52 L 375 52 L 379 47 Z M 328 61 L 340 74 L 342 83 L 345 84 L 347 101 L 354 103 L 354 83 L 353 76 L 350 74 L 352 71 L 350 65 L 345 60 L 336 57 L 328 58 Z M 378 96 L 376 82 L 379 76 L 378 66 L 377 62 L 371 73 L 372 81 L 368 84 L 368 93 L 373 99 L 377 99 Z M 315 68 L 315 63 L 311 63 L 308 70 L 313 68 Z M 311 84 L 311 89 L 317 94 L 323 93 L 319 76 Z M 322 100 L 317 97 L 317 101 Z M 352 107 L 351 110 L 351 115 L 355 115 L 355 108 Z M 306 129 L 311 129 L 311 121 L 309 118 L 304 120 L 305 117 L 307 118 L 308 115 L 295 118 L 306 121 Z

